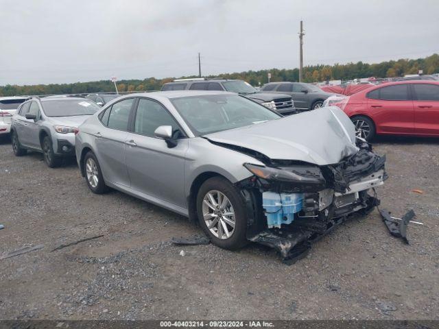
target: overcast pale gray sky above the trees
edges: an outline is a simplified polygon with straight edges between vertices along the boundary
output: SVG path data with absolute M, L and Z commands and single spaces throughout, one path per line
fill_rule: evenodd
M 439 53 L 438 0 L 0 0 L 0 86 Z

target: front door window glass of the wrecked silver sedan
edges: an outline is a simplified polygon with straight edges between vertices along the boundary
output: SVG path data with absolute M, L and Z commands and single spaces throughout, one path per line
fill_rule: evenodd
M 171 125 L 173 133 L 180 130 L 178 123 L 160 103 L 145 98 L 139 99 L 136 119 L 134 119 L 134 132 L 154 137 L 154 132 L 161 125 Z

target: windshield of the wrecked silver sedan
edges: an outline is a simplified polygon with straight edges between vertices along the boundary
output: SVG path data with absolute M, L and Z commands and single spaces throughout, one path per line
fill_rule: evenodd
M 171 99 L 195 136 L 220 132 L 281 116 L 238 95 L 201 95 Z

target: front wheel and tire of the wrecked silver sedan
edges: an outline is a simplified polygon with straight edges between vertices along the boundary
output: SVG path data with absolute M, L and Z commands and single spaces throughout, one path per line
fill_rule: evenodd
M 224 249 L 239 249 L 247 243 L 244 201 L 228 180 L 210 178 L 197 195 L 198 221 L 212 243 Z

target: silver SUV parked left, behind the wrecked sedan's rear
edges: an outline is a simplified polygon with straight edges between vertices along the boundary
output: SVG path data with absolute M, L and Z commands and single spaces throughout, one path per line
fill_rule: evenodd
M 14 154 L 40 151 L 47 166 L 59 167 L 63 156 L 75 155 L 78 125 L 97 110 L 93 101 L 80 97 L 29 97 L 12 117 Z

